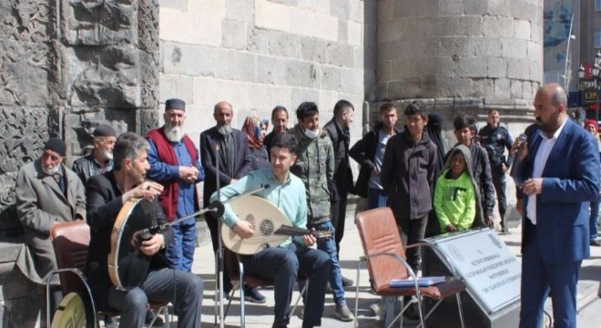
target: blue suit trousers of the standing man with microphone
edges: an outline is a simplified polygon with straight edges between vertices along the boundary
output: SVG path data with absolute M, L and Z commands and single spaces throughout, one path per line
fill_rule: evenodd
M 555 328 L 576 328 L 576 283 L 582 261 L 545 263 L 536 242 L 536 228 L 529 220 L 522 258 L 522 308 L 520 328 L 543 323 L 545 300 L 551 294 Z

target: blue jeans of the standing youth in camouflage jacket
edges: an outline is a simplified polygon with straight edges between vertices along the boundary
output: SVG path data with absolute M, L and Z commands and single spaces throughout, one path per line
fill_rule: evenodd
M 309 224 L 307 228 L 315 228 L 316 231 L 328 231 L 331 232 L 331 237 L 321 238 L 317 241 L 317 249 L 320 251 L 325 251 L 330 256 L 331 266 L 330 266 L 330 277 L 328 281 L 331 286 L 331 294 L 334 297 L 334 302 L 336 305 L 341 305 L 346 303 L 344 298 L 344 287 L 342 287 L 342 272 L 341 272 L 341 264 L 338 261 L 338 252 L 336 251 L 336 241 L 334 241 L 335 229 L 331 224 L 331 221 L 318 223 L 318 224 Z

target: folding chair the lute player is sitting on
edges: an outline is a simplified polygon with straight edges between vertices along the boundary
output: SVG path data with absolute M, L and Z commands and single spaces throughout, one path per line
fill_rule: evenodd
M 245 321 L 246 321 L 246 314 L 245 314 L 245 308 L 244 308 L 245 300 L 244 300 L 243 285 L 246 285 L 250 288 L 267 287 L 267 286 L 273 286 L 273 280 L 244 272 L 244 265 L 242 265 L 242 262 L 239 261 L 238 254 L 236 254 L 233 251 L 230 251 L 226 247 L 223 248 L 223 266 L 224 266 L 224 271 L 228 273 L 229 279 L 231 280 L 231 282 L 235 282 L 233 288 L 229 292 L 229 302 L 228 302 L 228 306 L 226 307 L 225 314 L 223 315 L 223 319 L 225 320 L 225 317 L 228 315 L 228 310 L 229 310 L 229 305 L 231 304 L 231 299 L 233 298 L 235 292 L 237 290 L 239 290 L 240 291 L 239 292 L 239 295 L 240 295 L 240 327 L 243 328 L 245 325 Z M 217 270 L 215 272 L 217 272 Z M 216 273 L 215 279 L 216 279 L 215 280 L 216 282 L 217 282 L 217 279 L 219 279 L 219 277 L 217 277 L 217 273 Z M 305 284 L 301 289 L 301 295 L 299 295 L 299 297 L 296 299 L 296 302 L 294 303 L 294 306 L 292 307 L 292 311 L 290 311 L 290 316 L 294 315 L 296 308 L 297 308 L 299 302 L 301 301 L 302 294 L 306 291 L 307 285 L 308 285 L 307 277 L 299 277 L 298 281 L 305 282 Z M 216 298 L 217 298 L 217 292 L 216 292 Z M 215 302 L 215 304 L 217 304 L 217 302 Z M 216 313 L 217 313 L 217 309 L 216 309 Z

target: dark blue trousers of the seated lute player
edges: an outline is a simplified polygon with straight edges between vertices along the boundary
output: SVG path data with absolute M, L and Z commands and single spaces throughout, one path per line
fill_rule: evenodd
M 328 254 L 292 242 L 289 248 L 274 247 L 255 255 L 240 256 L 240 261 L 244 264 L 245 272 L 273 280 L 273 327 L 286 327 L 290 323 L 290 300 L 299 275 L 309 277 L 302 327 L 321 325 L 331 263 Z

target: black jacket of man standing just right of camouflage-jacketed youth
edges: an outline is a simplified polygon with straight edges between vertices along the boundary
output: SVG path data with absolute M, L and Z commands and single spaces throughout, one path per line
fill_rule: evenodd
M 328 132 L 331 144 L 334 147 L 334 183 L 339 193 L 354 193 L 352 185 L 352 170 L 349 159 L 349 145 L 351 139 L 342 131 L 342 128 L 335 118 L 323 126 Z

